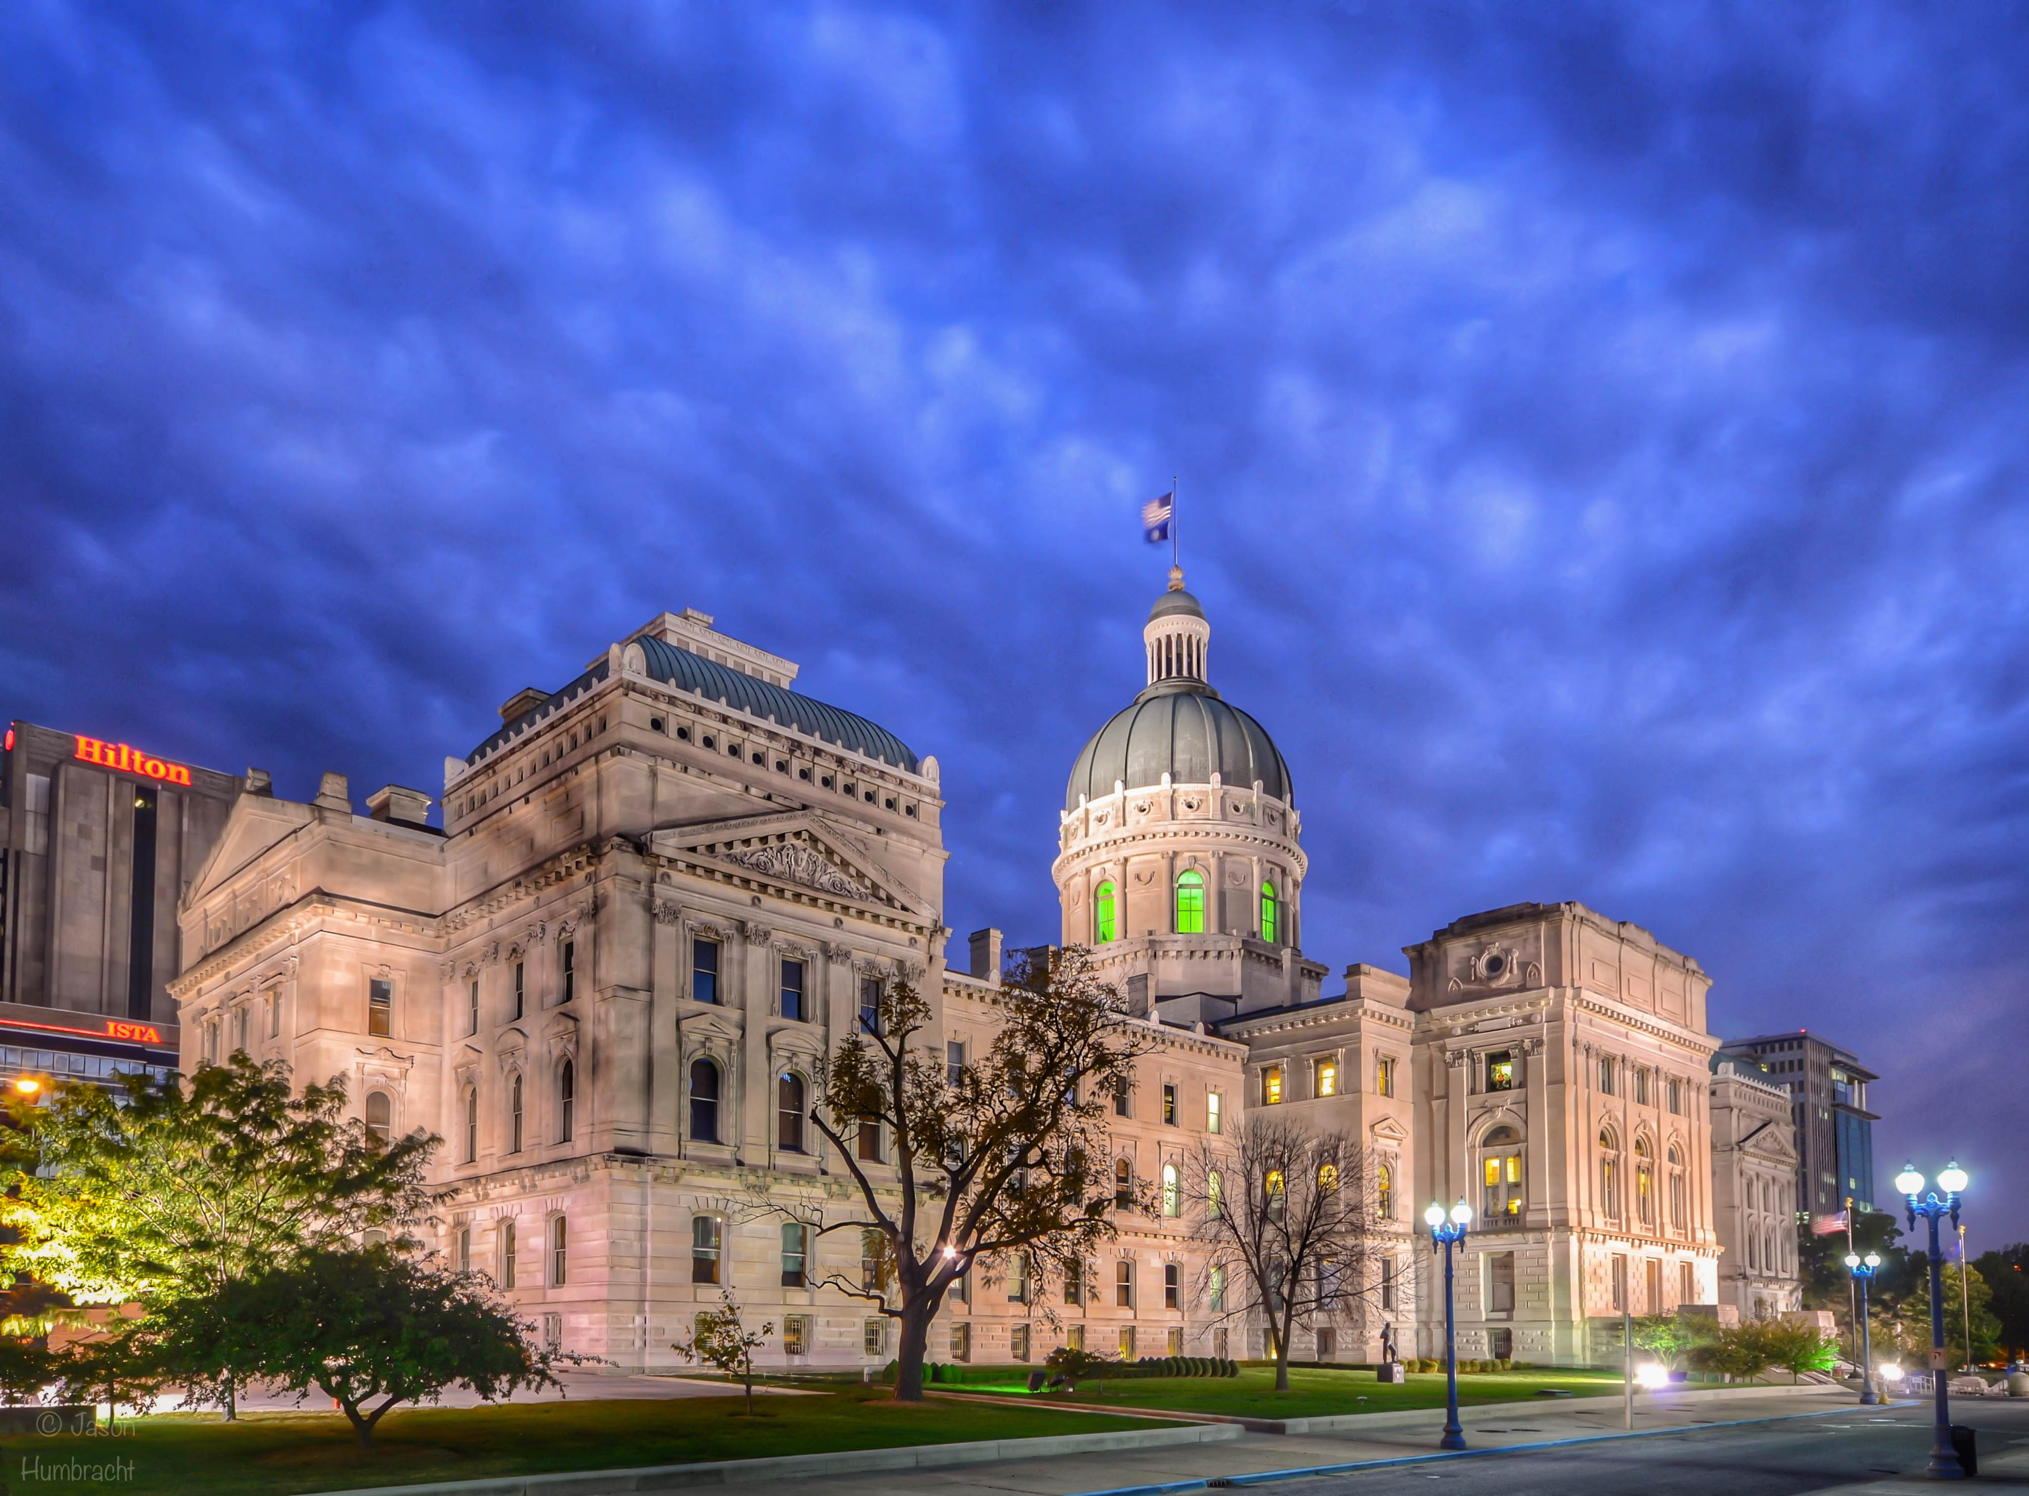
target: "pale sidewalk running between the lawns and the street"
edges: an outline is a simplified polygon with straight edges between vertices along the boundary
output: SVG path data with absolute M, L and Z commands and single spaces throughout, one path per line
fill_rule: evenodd
M 1745 1390 L 1745 1388 L 1743 1388 Z M 1897 1403 L 1887 1409 L 1863 1409 L 1844 1388 L 1771 1388 L 1765 1395 L 1727 1397 L 1723 1401 L 1666 1401 L 1666 1395 L 1643 1395 L 1635 1407 L 1635 1433 L 1664 1429 L 1698 1429 L 1708 1425 L 1790 1419 L 1824 1413 L 1855 1417 L 1923 1419 L 1917 1403 Z M 1317 1419 L 1307 1421 L 1311 1425 Z M 1351 1423 L 1333 1421 L 1333 1423 Z M 1386 1427 L 1380 1427 L 1386 1423 Z M 1623 1433 L 1619 1399 L 1581 1399 L 1575 1403 L 1495 1403 L 1463 1409 L 1459 1423 L 1473 1449 L 1503 1449 L 1542 1445 L 1558 1439 L 1597 1439 Z M 1355 1427 L 1303 1433 L 1246 1431 L 1238 1439 L 1191 1445 L 1183 1449 L 1108 1449 L 1055 1459 L 1012 1459 L 1000 1466 L 958 1470 L 883 1472 L 874 1476 L 826 1476 L 795 1482 L 808 1496 L 1088 1496 L 1096 1492 L 1146 1490 L 1171 1482 L 1203 1482 L 1215 1476 L 1248 1476 L 1270 1470 L 1315 1470 L 1368 1459 L 1418 1459 L 1439 1453 L 1437 1439 L 1445 1427 L 1445 1411 L 1363 1415 Z M 787 1490 L 755 1482 L 751 1490 Z

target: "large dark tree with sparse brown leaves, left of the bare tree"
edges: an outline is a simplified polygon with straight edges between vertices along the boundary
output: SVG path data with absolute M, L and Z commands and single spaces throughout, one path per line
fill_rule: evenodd
M 929 1003 L 907 982 L 881 993 L 872 1025 L 824 1066 L 812 1120 L 858 1185 L 844 1220 L 801 1214 L 818 1234 L 868 1232 L 870 1271 L 824 1285 L 899 1323 L 895 1397 L 923 1397 L 929 1321 L 976 1263 L 1021 1271 L 1041 1299 L 1114 1236 L 1106 1114 L 1155 1047 L 1120 995 L 1071 946 L 1002 987 L 1004 1025 L 960 1066 L 919 1035 Z M 862 1131 L 864 1129 L 864 1131 Z M 868 1153 L 881 1163 L 868 1167 Z M 893 1165 L 893 1183 L 887 1169 Z M 1136 1196 L 1138 1200 L 1138 1196 Z

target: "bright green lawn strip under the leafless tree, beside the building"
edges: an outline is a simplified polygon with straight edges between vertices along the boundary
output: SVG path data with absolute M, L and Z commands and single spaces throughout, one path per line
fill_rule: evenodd
M 1473 1403 L 1550 1403 L 1536 1397 L 1538 1388 L 1554 1386 L 1575 1397 L 1619 1397 L 1617 1372 L 1542 1370 L 1542 1372 L 1461 1372 L 1459 1405 Z M 1021 1380 L 1006 1386 L 939 1386 L 939 1392 L 1019 1392 L 1037 1403 L 1118 1403 L 1122 1407 L 1169 1409 L 1175 1413 L 1232 1413 L 1250 1419 L 1313 1419 L 1333 1413 L 1390 1413 L 1394 1409 L 1445 1407 L 1443 1372 L 1410 1372 L 1408 1382 L 1394 1386 L 1374 1380 L 1374 1372 L 1288 1368 L 1288 1390 L 1274 1390 L 1274 1370 L 1242 1366 L 1240 1376 L 1148 1376 L 1126 1382 L 1081 1382 L 1077 1392 L 1029 1392 Z M 1361 1401 L 1366 1399 L 1366 1401 Z

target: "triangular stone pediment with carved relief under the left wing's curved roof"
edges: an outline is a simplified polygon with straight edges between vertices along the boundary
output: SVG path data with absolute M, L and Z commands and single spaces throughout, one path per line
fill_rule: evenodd
M 649 851 L 722 869 L 789 897 L 818 895 L 917 920 L 935 913 L 881 865 L 866 838 L 810 810 L 666 826 L 649 832 Z

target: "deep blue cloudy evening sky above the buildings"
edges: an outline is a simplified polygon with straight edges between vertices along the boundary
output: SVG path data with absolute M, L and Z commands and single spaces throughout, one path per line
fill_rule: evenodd
M 702 607 L 1037 940 L 1175 473 L 1309 954 L 1585 899 L 2029 1234 L 2025 22 L 0 8 L 0 715 L 436 790 Z

